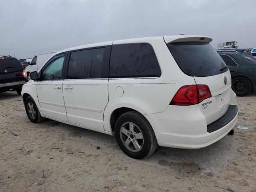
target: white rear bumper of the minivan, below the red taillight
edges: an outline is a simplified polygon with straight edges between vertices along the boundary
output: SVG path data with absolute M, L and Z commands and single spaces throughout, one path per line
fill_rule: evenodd
M 196 149 L 206 147 L 228 134 L 237 122 L 238 110 L 229 118 L 229 122 L 218 124 L 222 126 L 213 132 L 207 132 L 206 119 L 198 106 L 169 106 L 165 112 L 145 116 L 160 146 Z

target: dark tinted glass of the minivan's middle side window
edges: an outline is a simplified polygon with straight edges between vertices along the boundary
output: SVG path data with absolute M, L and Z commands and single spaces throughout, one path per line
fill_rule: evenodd
M 68 79 L 106 78 L 104 70 L 105 48 L 74 51 L 68 63 Z

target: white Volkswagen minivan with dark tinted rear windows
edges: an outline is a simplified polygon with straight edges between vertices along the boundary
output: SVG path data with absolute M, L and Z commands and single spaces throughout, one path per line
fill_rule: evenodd
M 211 41 L 162 36 L 59 51 L 22 88 L 28 118 L 115 135 L 137 159 L 158 145 L 208 146 L 238 116 L 230 71 Z

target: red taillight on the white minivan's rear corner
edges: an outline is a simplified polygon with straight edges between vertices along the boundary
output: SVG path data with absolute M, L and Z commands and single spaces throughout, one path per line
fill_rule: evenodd
M 211 96 L 207 85 L 185 85 L 178 90 L 170 105 L 194 105 Z

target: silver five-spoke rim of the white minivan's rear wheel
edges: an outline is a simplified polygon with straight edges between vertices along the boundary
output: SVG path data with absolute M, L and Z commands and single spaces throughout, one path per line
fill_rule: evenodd
M 132 152 L 140 151 L 144 144 L 144 137 L 140 128 L 132 122 L 122 124 L 120 138 L 124 146 Z

